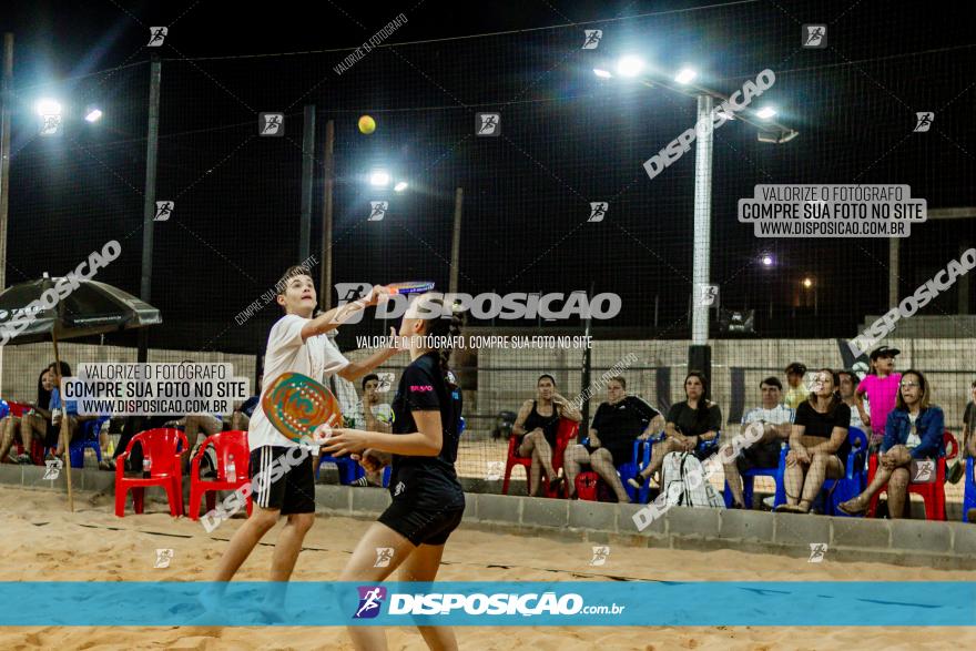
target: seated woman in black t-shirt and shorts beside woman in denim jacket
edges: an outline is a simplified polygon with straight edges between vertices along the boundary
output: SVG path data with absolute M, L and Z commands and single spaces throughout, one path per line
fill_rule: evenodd
M 836 373 L 821 368 L 810 397 L 796 408 L 783 478 L 786 503 L 776 507 L 777 511 L 810 512 L 824 479 L 844 476 L 851 451 L 851 407 L 841 399 L 840 386 Z

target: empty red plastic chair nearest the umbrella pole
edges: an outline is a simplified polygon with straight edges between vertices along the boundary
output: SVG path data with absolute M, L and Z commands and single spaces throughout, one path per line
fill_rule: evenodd
M 150 477 L 125 477 L 125 460 L 135 443 L 142 444 L 143 457 L 150 461 Z M 132 437 L 125 451 L 115 459 L 115 515 L 125 516 L 125 498 L 132 490 L 132 501 L 136 513 L 145 506 L 145 487 L 162 486 L 170 499 L 170 515 L 183 515 L 183 469 L 180 454 L 187 449 L 186 436 L 179 429 L 148 429 Z

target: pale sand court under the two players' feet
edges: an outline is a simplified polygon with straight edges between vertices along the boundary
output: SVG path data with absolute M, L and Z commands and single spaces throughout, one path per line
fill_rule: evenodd
M 204 581 L 243 522 L 235 518 L 207 535 L 199 522 L 172 519 L 150 502 L 144 516 L 119 519 L 106 497 L 80 494 L 78 512 L 64 496 L 0 490 L 0 527 L 8 542 L 0 561 L 3 581 Z M 334 580 L 368 520 L 319 517 L 305 540 L 294 578 Z M 278 526 L 278 528 L 281 525 Z M 243 566 L 240 580 L 264 580 L 277 528 Z M 809 563 L 805 559 L 730 550 L 713 552 L 611 546 L 606 564 L 593 567 L 592 546 L 486 532 L 462 525 L 451 537 L 438 574 L 444 581 L 704 581 L 704 580 L 926 580 L 972 581 L 976 571 L 941 571 L 885 563 Z M 169 568 L 154 568 L 156 549 L 172 549 Z M 16 608 L 8 603 L 4 608 Z M 105 603 L 113 609 L 138 604 Z M 718 609 L 721 604 L 703 604 Z M 649 614 L 653 604 L 648 606 Z M 762 628 L 762 627 L 462 627 L 461 649 L 921 649 L 966 648 L 976 630 L 965 628 Z M 409 628 L 388 629 L 390 649 L 426 649 Z M 0 629 L 3 649 L 352 649 L 345 630 L 314 627 Z

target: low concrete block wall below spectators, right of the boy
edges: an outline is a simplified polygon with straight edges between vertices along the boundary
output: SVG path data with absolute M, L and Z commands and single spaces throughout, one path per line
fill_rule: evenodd
M 945 569 L 976 568 L 976 525 L 864 520 L 674 507 L 638 531 L 641 507 L 466 494 L 462 527 L 502 533 L 665 549 L 735 549 L 810 558 L 826 543 L 826 561 L 871 561 Z M 375 518 L 389 503 L 382 489 L 317 486 L 318 511 Z

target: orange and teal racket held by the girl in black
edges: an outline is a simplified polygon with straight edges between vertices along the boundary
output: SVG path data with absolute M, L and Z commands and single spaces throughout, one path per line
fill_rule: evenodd
M 329 427 L 343 426 L 336 397 L 301 373 L 276 377 L 262 396 L 261 408 L 272 426 L 295 443 L 316 441 L 316 430 L 322 436 Z

